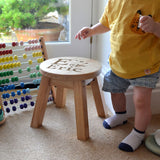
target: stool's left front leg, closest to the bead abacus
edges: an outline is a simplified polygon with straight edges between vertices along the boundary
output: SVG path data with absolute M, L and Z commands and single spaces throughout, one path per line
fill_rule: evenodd
M 48 96 L 51 90 L 49 81 L 50 81 L 49 78 L 42 76 L 31 122 L 31 127 L 33 128 L 38 128 L 42 126 L 42 121 L 47 106 Z

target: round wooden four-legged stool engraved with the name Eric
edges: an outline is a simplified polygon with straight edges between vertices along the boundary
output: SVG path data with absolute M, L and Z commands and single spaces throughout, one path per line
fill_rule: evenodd
M 97 76 L 101 65 L 95 60 L 81 57 L 58 57 L 48 59 L 40 64 L 42 79 L 32 117 L 31 127 L 42 125 L 47 100 L 51 87 L 56 86 L 57 107 L 64 107 L 66 100 L 65 88 L 74 90 L 77 138 L 89 138 L 86 85 L 90 84 L 99 117 L 105 117 Z

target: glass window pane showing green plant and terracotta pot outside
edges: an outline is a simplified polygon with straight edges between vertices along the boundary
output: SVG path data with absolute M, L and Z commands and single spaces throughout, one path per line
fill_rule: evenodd
M 0 0 L 0 42 L 69 41 L 70 0 Z

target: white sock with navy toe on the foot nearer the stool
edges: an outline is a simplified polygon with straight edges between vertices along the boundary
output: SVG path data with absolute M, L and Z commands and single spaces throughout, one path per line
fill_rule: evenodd
M 118 125 L 127 123 L 127 114 L 125 112 L 116 112 L 115 115 L 109 117 L 103 121 L 103 126 L 106 129 L 111 129 Z

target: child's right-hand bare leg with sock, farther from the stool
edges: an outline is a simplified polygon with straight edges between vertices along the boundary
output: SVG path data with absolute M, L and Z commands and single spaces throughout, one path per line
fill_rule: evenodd
M 135 124 L 132 132 L 120 143 L 119 148 L 132 152 L 142 143 L 151 120 L 151 88 L 134 87 Z

